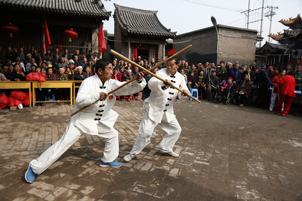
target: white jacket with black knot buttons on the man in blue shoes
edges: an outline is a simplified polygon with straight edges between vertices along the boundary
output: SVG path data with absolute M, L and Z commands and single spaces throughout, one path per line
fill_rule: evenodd
M 115 103 L 116 95 L 129 95 L 141 91 L 146 85 L 146 81 L 143 78 L 140 83 L 134 80 L 133 82 L 127 84 L 126 86 L 120 88 L 114 93 L 110 94 L 106 100 L 100 100 L 100 92 L 110 92 L 111 90 L 117 88 L 125 82 L 120 82 L 115 79 L 107 80 L 104 85 L 98 75 L 88 77 L 83 80 L 77 98 L 75 99 L 75 107 L 73 112 L 80 110 L 81 108 L 93 104 L 88 108 L 84 109 L 80 113 L 74 115 L 71 118 L 75 118 L 74 126 L 81 129 L 84 133 L 90 135 L 98 134 L 98 124 L 99 122 L 105 124 L 106 126 L 112 128 L 118 114 L 112 109 Z M 106 87 L 106 88 L 100 88 Z

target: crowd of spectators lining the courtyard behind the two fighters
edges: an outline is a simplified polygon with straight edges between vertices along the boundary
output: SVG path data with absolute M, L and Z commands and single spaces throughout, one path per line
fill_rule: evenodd
M 25 76 L 32 72 L 45 73 L 46 80 L 84 80 L 95 74 L 94 64 L 98 60 L 97 53 L 92 54 L 91 51 L 87 55 L 81 55 L 79 50 L 76 50 L 75 54 L 70 55 L 67 49 L 63 53 L 60 53 L 59 49 L 50 53 L 50 50 L 47 49 L 43 56 L 41 51 L 34 50 L 33 54 L 25 54 L 23 48 L 20 48 L 20 52 L 16 50 L 16 48 L 12 50 L 9 47 L 7 52 L 4 52 L 0 47 L 0 78 L 2 81 L 26 81 Z M 145 59 L 141 60 L 140 57 L 137 60 L 132 58 L 132 61 L 145 69 L 159 64 L 154 58 L 151 59 L 150 63 Z M 111 78 L 119 81 L 129 81 L 141 71 L 127 61 L 118 59 L 113 60 L 112 66 Z M 152 72 L 156 73 L 165 67 L 164 63 L 152 69 Z M 293 70 L 291 65 L 287 65 L 285 69 L 279 69 L 273 68 L 273 66 L 267 68 L 266 64 L 256 66 L 255 62 L 250 65 L 241 65 L 239 61 L 236 61 L 235 64 L 220 61 L 217 65 L 214 62 L 189 65 L 188 62 L 181 61 L 178 68 L 178 72 L 184 76 L 188 88 L 200 89 L 198 90 L 199 95 L 206 101 L 213 100 L 214 97 L 219 101 L 232 92 L 234 104 L 242 107 L 255 88 L 257 98 L 254 107 L 261 106 L 264 110 L 269 107 L 270 111 L 273 110 L 277 97 L 279 99 L 279 81 L 282 77 L 292 74 L 295 79 L 295 89 L 302 90 L 302 67 L 297 65 L 295 72 L 292 72 Z M 144 78 L 148 82 L 151 76 L 145 74 Z M 77 85 L 80 84 L 77 83 Z M 272 90 L 270 90 L 271 88 Z M 51 91 L 58 103 L 59 100 L 67 99 L 67 90 L 53 88 Z M 45 95 L 48 97 L 46 100 L 49 99 L 49 91 L 42 90 L 42 92 L 39 92 L 39 99 L 44 101 L 43 96 L 45 97 Z M 127 100 L 130 101 L 132 97 L 135 100 L 145 99 L 150 92 L 148 85 L 146 85 L 141 93 L 129 94 Z M 121 96 L 119 99 L 124 100 L 124 97 Z

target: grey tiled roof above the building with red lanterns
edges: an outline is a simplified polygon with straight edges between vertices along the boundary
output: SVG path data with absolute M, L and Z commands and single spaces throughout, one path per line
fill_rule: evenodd
M 92 0 L 82 0 L 81 3 L 75 3 L 74 0 L 0 0 L 0 6 L 68 15 L 103 17 L 106 20 L 109 20 L 111 16 L 111 11 L 107 12 L 101 1 L 93 4 Z

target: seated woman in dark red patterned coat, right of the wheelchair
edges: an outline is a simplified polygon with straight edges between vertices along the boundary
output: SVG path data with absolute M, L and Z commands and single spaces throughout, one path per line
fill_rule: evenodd
M 244 106 L 244 99 L 245 97 L 247 98 L 249 94 L 251 93 L 252 89 L 252 83 L 251 80 L 249 79 L 249 75 L 245 74 L 244 79 L 241 80 L 240 84 L 237 87 L 235 98 L 236 102 L 234 103 L 235 105 L 239 103 L 239 96 L 240 96 L 240 107 Z

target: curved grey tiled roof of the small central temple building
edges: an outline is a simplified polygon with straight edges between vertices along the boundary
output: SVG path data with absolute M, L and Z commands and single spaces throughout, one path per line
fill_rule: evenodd
M 162 25 L 157 17 L 157 11 L 134 9 L 117 4 L 114 6 L 114 19 L 118 21 L 123 33 L 174 39 L 176 32 L 171 32 L 171 29 Z

